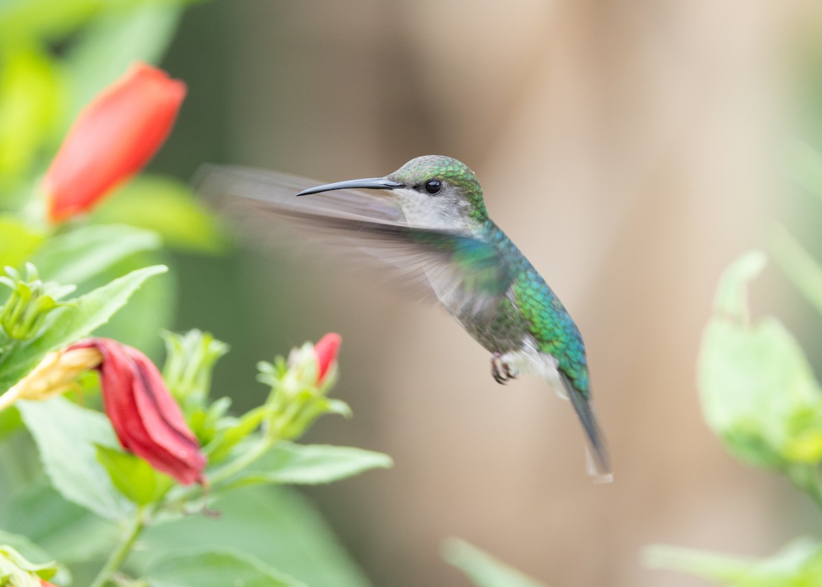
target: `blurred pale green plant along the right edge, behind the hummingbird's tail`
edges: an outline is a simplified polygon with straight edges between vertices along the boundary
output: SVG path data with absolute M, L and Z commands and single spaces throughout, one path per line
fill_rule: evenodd
M 822 155 L 794 146 L 797 183 L 822 197 Z M 782 226 L 769 249 L 788 279 L 822 314 L 822 266 Z M 750 317 L 747 289 L 766 263 L 764 252 L 742 255 L 724 272 L 705 327 L 699 361 L 705 421 L 732 455 L 784 474 L 822 508 L 822 386 L 801 346 L 772 316 Z M 822 543 L 803 538 L 764 560 L 653 546 L 653 568 L 685 571 L 728 587 L 822 585 Z

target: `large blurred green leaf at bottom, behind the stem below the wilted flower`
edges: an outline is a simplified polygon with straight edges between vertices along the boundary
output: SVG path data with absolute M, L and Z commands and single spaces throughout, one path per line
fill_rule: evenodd
M 158 553 L 210 544 L 247 552 L 311 587 L 369 585 L 316 508 L 296 492 L 240 488 L 224 493 L 213 507 L 222 514 L 218 520 L 193 515 L 147 529 L 141 538 L 145 550 L 129 559 L 133 574 L 144 575 Z

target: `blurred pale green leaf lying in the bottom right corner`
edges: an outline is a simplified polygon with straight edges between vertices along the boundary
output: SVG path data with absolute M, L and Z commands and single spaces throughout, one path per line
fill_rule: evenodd
M 822 546 L 810 539 L 788 544 L 760 561 L 670 546 L 645 549 L 644 564 L 684 571 L 727 587 L 817 587 L 822 585 Z

